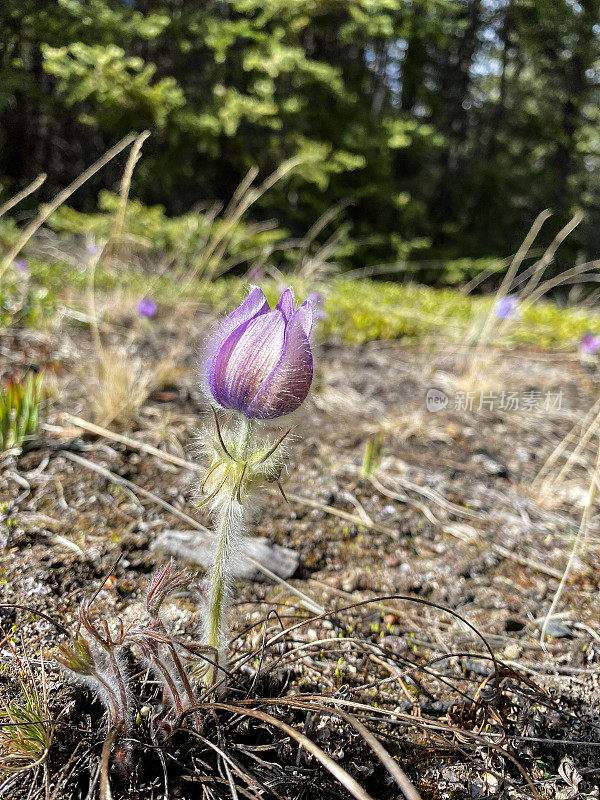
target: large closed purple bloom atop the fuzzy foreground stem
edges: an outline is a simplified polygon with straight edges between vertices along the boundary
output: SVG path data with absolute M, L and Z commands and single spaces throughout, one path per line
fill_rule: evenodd
M 205 375 L 216 402 L 249 419 L 295 411 L 312 383 L 312 322 L 311 304 L 294 310 L 290 289 L 273 310 L 261 289 L 252 289 L 211 342 Z

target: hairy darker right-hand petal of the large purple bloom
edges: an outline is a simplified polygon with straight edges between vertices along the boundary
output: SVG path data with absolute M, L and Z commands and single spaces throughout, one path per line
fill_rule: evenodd
M 313 359 L 304 323 L 304 314 L 296 312 L 285 331 L 281 358 L 248 406 L 247 417 L 273 419 L 291 414 L 306 398 L 312 383 Z

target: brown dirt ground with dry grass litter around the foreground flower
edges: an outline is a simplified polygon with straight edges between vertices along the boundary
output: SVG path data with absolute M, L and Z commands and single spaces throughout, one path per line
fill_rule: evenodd
M 190 329 L 201 331 L 202 322 Z M 177 377 L 155 390 L 121 433 L 197 460 L 197 430 L 211 424 L 195 375 L 201 338 L 177 351 Z M 152 363 L 177 341 L 176 325 L 157 323 L 130 351 Z M 82 597 L 106 579 L 94 613 L 132 624 L 152 570 L 167 558 L 157 547 L 161 533 L 190 528 L 135 487 L 210 524 L 194 510 L 197 472 L 79 430 L 64 416 L 91 419 L 92 352 L 83 328 L 59 337 L 0 335 L 2 377 L 45 368 L 53 389 L 43 435 L 25 452 L 0 458 L 0 623 L 10 634 L 8 641 L 0 636 L 0 691 L 18 700 L 24 662 L 39 675 L 43 652 L 50 711 L 60 715 L 48 782 L 41 767 L 3 778 L 0 797 L 14 800 L 99 797 L 106 722 L 98 701 L 52 662 L 62 634 L 10 604 L 43 611 L 74 630 Z M 236 584 L 234 679 L 220 699 L 246 701 L 308 736 L 375 800 L 403 793 L 334 707 L 360 715 L 423 798 L 597 797 L 595 513 L 545 649 L 539 642 L 586 501 L 593 440 L 559 480 L 550 471 L 545 485 L 533 481 L 596 402 L 598 376 L 571 355 L 512 351 L 486 354 L 474 377 L 461 381 L 461 359 L 450 345 L 316 348 L 313 392 L 290 419 L 283 476 L 289 503 L 265 490 L 247 526 L 253 536 L 296 550 L 299 567 L 287 586 Z M 426 408 L 431 387 L 449 397 L 435 413 Z M 460 391 L 473 392 L 472 409 L 456 407 Z M 521 407 L 500 408 L 503 391 L 516 392 Z M 478 410 L 481 392 L 488 400 Z M 559 392 L 561 407 L 544 409 L 547 395 Z M 271 425 L 267 433 L 275 438 L 281 430 Z M 380 434 L 380 461 L 365 477 L 365 447 Z M 570 450 L 578 437 L 576 431 Z M 311 602 L 335 613 L 315 619 Z M 359 605 L 347 608 L 353 604 Z M 194 592 L 182 593 L 169 607 L 173 629 L 197 639 L 198 609 Z M 127 657 L 140 707 L 153 707 L 160 702 L 156 686 L 143 670 L 135 672 L 136 654 Z M 276 725 L 209 705 L 202 716 L 200 738 L 184 729 L 157 743 L 142 715 L 132 737 L 135 766 L 119 769 L 113 758 L 112 796 L 351 796 Z

